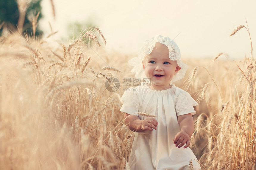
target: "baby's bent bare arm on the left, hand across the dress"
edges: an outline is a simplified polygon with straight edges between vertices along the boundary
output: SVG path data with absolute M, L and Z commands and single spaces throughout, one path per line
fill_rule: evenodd
M 157 130 L 157 120 L 153 117 L 147 117 L 144 120 L 141 120 L 138 116 L 129 115 L 125 113 L 124 121 L 127 124 L 128 128 L 134 132 L 143 132 L 143 131 L 153 131 Z

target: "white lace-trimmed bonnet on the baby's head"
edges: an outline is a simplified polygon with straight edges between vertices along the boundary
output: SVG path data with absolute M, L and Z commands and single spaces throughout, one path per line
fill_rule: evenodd
M 139 51 L 138 57 L 132 58 L 128 63 L 133 66 L 131 70 L 132 73 L 135 73 L 136 78 L 146 78 L 142 61 L 145 55 L 149 55 L 153 48 L 155 47 L 156 42 L 160 42 L 166 45 L 169 49 L 169 58 L 173 61 L 177 61 L 178 66 L 181 68 L 179 72 L 174 75 L 171 82 L 175 82 L 177 80 L 182 79 L 185 76 L 185 72 L 188 69 L 188 66 L 182 63 L 180 59 L 180 51 L 177 44 L 170 39 L 168 36 L 161 36 L 156 35 L 153 38 L 147 40 L 145 44 L 142 46 L 141 50 Z

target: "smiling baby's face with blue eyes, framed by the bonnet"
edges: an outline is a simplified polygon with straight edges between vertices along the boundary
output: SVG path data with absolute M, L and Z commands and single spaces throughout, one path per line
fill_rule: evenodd
M 143 69 L 147 78 L 150 78 L 150 87 L 154 90 L 165 90 L 171 79 L 180 70 L 177 61 L 170 60 L 166 45 L 157 42 L 152 53 L 143 60 Z

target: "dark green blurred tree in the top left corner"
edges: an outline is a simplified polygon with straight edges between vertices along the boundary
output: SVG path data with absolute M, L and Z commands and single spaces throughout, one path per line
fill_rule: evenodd
M 39 20 L 43 17 L 43 15 L 41 14 L 41 1 L 42 0 L 31 0 L 28 4 L 25 4 L 26 7 L 24 9 L 24 22 L 22 22 L 23 24 L 20 30 L 21 33 L 25 32 L 29 35 L 33 34 L 33 28 L 31 23 L 33 16 L 39 14 L 35 24 L 37 24 Z M 0 22 L 3 23 L 3 26 L 0 27 L 0 35 L 2 34 L 4 28 L 7 28 L 7 30 L 9 31 L 16 31 L 21 15 L 22 12 L 19 11 L 17 0 L 0 0 Z M 43 31 L 36 27 L 35 35 L 41 34 L 43 34 Z

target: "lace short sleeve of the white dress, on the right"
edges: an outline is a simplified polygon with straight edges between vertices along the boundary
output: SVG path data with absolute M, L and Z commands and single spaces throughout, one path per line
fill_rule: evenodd
M 188 92 L 180 93 L 175 100 L 175 109 L 177 116 L 191 113 L 196 114 L 193 106 L 198 105 Z

